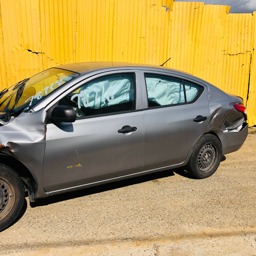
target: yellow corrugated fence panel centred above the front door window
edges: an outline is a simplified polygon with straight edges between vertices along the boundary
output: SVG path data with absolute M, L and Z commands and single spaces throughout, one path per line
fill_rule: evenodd
M 77 0 L 76 62 L 112 61 L 114 3 Z

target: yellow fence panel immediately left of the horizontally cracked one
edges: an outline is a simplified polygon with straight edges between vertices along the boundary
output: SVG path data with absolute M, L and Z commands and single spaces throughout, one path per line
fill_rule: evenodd
M 193 74 L 221 88 L 227 7 L 204 5 Z

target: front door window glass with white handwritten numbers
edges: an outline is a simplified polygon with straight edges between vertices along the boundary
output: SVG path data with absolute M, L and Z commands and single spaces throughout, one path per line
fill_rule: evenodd
M 77 117 L 135 110 L 135 75 L 122 73 L 100 77 L 61 99 Z

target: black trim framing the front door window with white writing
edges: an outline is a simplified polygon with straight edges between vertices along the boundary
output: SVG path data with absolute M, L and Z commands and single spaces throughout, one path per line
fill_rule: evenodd
M 125 110 L 125 111 L 117 111 L 117 112 L 97 114 L 97 115 L 80 116 L 80 117 L 76 117 L 75 120 L 82 120 L 82 119 L 96 118 L 96 117 L 103 117 L 103 116 L 110 116 L 110 115 L 120 115 L 120 114 L 126 114 L 126 113 L 133 113 L 133 112 L 143 111 L 143 109 L 140 109 L 140 110 L 136 109 L 136 107 L 137 107 L 137 74 L 136 74 L 136 71 L 105 74 L 105 75 L 99 76 L 99 77 L 97 77 L 95 79 L 92 79 L 90 81 L 87 81 L 85 84 L 93 82 L 94 80 L 97 80 L 97 79 L 105 77 L 105 76 L 117 75 L 117 74 L 134 74 L 134 110 Z M 85 85 L 85 84 L 83 84 L 83 85 Z M 83 85 L 79 86 L 78 88 L 81 88 Z M 71 93 L 76 91 L 78 88 L 74 89 Z M 68 95 L 64 96 L 63 98 L 65 98 L 67 96 Z M 61 98 L 61 99 L 63 99 L 63 98 Z M 61 99 L 58 100 L 57 102 L 61 101 Z

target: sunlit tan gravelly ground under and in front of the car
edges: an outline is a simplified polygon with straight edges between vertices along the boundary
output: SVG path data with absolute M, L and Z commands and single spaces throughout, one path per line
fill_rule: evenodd
M 175 169 L 28 203 L 0 238 L 10 256 L 256 256 L 256 135 L 208 179 Z

